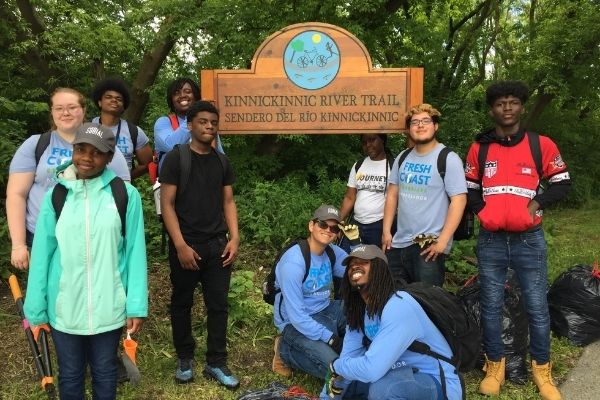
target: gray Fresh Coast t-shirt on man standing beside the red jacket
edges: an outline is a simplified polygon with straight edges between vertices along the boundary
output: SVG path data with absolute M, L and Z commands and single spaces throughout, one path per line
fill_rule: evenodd
M 389 181 L 392 185 L 399 185 L 398 230 L 392 239 L 392 247 L 408 247 L 413 244 L 413 238 L 421 233 L 439 235 L 448 215 L 448 197 L 467 193 L 463 164 L 454 152 L 448 154 L 446 178 L 442 180 L 437 169 L 437 158 L 444 147 L 439 143 L 424 155 L 413 150 L 400 168 L 400 155 L 394 160 Z M 452 239 L 445 252 L 448 253 L 451 247 Z

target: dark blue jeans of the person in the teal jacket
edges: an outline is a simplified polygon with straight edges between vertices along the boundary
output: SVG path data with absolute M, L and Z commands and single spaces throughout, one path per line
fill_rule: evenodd
M 58 361 L 58 388 L 61 400 L 85 399 L 85 371 L 90 365 L 94 400 L 117 397 L 115 349 L 122 328 L 96 335 L 71 335 L 52 328 Z

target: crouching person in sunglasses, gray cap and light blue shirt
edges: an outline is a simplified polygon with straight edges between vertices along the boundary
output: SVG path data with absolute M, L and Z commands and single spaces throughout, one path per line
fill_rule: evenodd
M 339 355 L 346 319 L 341 301 L 331 300 L 331 289 L 334 277 L 344 273 L 341 261 L 347 254 L 332 244 L 340 222 L 336 207 L 317 208 L 308 222 L 306 241 L 285 251 L 275 266 L 278 292 L 273 320 L 281 333 L 275 340 L 275 372 L 290 375 L 287 365 L 323 379 L 327 366 Z M 306 245 L 308 271 L 301 248 Z

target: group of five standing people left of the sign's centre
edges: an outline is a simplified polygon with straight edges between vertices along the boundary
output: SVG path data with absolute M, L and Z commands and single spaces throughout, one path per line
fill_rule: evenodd
M 173 81 L 167 88 L 171 114 L 155 124 L 153 160 L 142 129 L 121 118 L 130 101 L 125 83 L 102 80 L 91 97 L 100 115 L 84 123 L 80 92 L 58 88 L 51 94 L 52 129 L 18 148 L 7 185 L 11 264 L 29 268 L 24 311 L 34 331 L 52 334 L 61 399 L 85 398 L 88 365 L 94 398 L 116 398 L 123 329 L 139 332 L 148 315 L 143 211 L 129 181 L 156 161 L 170 237 L 175 378 L 193 380 L 191 307 L 200 282 L 208 314 L 203 372 L 234 389 L 239 381 L 227 368 L 227 293 L 239 234 L 235 177 L 217 134 L 219 112 L 200 100 L 193 80 Z M 180 181 L 182 167 L 188 168 L 187 184 Z

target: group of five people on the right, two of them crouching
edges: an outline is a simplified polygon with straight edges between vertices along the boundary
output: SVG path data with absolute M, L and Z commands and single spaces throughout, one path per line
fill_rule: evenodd
M 521 124 L 528 96 L 519 81 L 487 88 L 495 126 L 476 136 L 464 168 L 459 156 L 438 142 L 441 114 L 429 104 L 409 111 L 412 147 L 391 166 L 385 136 L 361 136 L 367 158 L 352 167 L 341 210 L 322 206 L 308 223 L 310 265 L 305 266 L 299 245 L 276 264 L 280 292 L 274 323 L 280 336 L 273 371 L 290 376 L 297 369 L 324 379 L 322 398 L 464 398 L 450 363 L 441 361 L 442 381 L 437 359 L 408 349 L 418 340 L 452 356 L 445 338 L 402 285 L 443 285 L 445 257 L 469 207 L 480 222 L 476 252 L 486 374 L 479 392 L 498 395 L 504 384 L 502 307 L 511 268 L 529 318 L 533 381 L 543 399 L 561 398 L 551 373 L 541 222 L 543 209 L 563 199 L 571 182 L 556 144 Z M 442 168 L 440 154 L 446 157 Z M 539 190 L 542 179 L 548 181 L 544 191 Z M 350 224 L 358 226 L 363 244 L 344 251 L 333 242 L 340 226 L 348 226 L 343 224 L 352 210 Z M 335 279 L 341 279 L 339 300 L 331 298 Z

